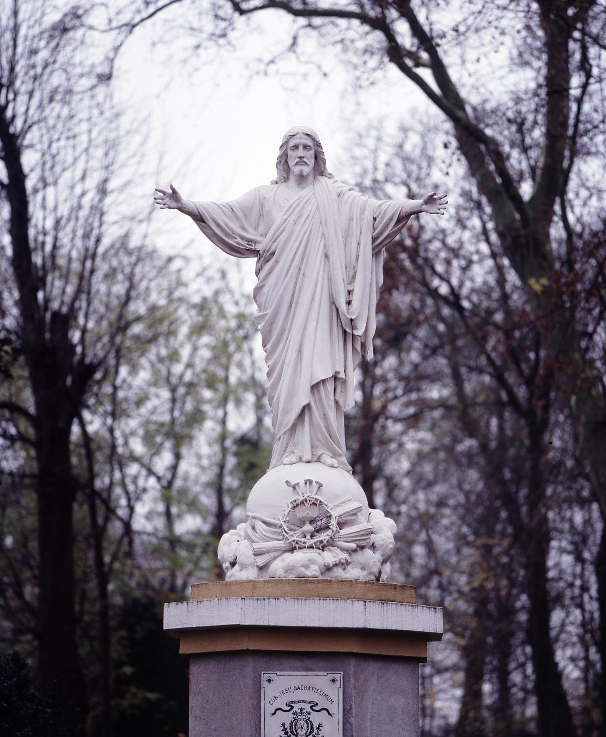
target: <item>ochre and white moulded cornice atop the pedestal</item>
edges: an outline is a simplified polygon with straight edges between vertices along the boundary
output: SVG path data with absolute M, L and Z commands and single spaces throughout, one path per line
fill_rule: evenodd
M 411 598 L 414 587 L 369 581 L 194 584 L 191 601 L 165 604 L 164 629 L 189 655 L 267 650 L 426 660 L 427 642 L 442 638 L 442 609 Z

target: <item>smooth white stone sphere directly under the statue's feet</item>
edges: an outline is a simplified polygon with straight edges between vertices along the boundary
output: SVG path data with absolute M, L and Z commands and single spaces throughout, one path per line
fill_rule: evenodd
M 303 481 L 320 481 L 322 488 L 315 492 L 329 504 L 336 504 L 345 497 L 351 497 L 362 504 L 362 511 L 356 518 L 350 519 L 346 526 L 368 521 L 368 502 L 364 489 L 353 476 L 342 468 L 331 468 L 323 463 L 295 463 L 289 466 L 276 466 L 261 477 L 248 495 L 246 511 L 253 511 L 279 520 L 286 505 L 295 496 L 305 491 Z M 299 483 L 297 490 L 286 484 Z

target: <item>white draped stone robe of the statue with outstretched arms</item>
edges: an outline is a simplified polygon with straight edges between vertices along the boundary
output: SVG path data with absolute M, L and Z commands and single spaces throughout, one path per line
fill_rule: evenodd
M 345 459 L 343 412 L 353 374 L 372 357 L 383 248 L 406 225 L 402 200 L 375 200 L 324 176 L 295 189 L 251 189 L 196 202 L 197 226 L 222 251 L 257 259 L 253 293 L 267 363 L 275 442 L 270 468 L 292 451 Z

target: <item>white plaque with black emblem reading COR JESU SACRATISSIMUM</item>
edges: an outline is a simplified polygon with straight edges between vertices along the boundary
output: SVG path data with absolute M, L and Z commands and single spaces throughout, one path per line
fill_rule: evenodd
M 261 737 L 342 737 L 342 673 L 261 674 Z

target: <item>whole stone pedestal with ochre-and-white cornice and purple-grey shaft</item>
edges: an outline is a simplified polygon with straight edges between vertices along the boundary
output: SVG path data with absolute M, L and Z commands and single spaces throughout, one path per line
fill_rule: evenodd
M 442 637 L 442 609 L 415 604 L 415 588 L 398 584 L 222 581 L 195 584 L 191 601 L 166 604 L 164 629 L 191 659 L 189 737 L 306 734 L 302 721 L 289 722 L 300 704 L 311 709 L 314 735 L 321 718 L 325 737 L 416 737 L 419 663 L 427 642 Z M 267 675 L 266 685 L 262 674 L 301 675 L 291 679 L 294 693 L 272 696 L 280 677 Z M 305 674 L 338 674 L 341 719 Z M 262 691 L 281 707 L 264 721 Z

